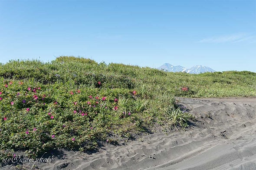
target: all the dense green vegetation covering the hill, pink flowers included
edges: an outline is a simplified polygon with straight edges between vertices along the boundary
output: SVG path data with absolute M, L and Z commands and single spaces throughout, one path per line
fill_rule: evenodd
M 174 96 L 256 96 L 256 73 L 169 73 L 75 57 L 1 64 L 0 157 L 89 151 L 155 124 L 184 128 L 193 117 Z

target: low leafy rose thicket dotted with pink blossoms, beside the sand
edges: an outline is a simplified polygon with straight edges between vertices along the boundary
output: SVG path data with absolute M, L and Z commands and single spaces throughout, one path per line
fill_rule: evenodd
M 100 81 L 98 84 L 104 85 Z M 115 141 L 143 130 L 130 95 L 132 90 L 74 88 L 56 84 L 4 80 L 0 83 L 0 149 L 26 151 L 36 157 L 53 148 L 96 149 L 98 141 Z M 118 98 L 128 97 L 126 108 Z M 127 112 L 128 111 L 128 112 Z M 125 116 L 123 114 L 125 113 Z M 130 124 L 130 128 L 115 129 Z M 132 129 L 133 128 L 133 129 Z M 129 135 L 128 135 L 129 136 Z

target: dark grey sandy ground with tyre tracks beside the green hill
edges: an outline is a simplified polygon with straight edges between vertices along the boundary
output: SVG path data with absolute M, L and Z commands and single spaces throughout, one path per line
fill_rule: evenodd
M 176 99 L 196 117 L 186 131 L 106 144 L 95 154 L 63 151 L 35 165 L 40 170 L 256 170 L 256 98 Z

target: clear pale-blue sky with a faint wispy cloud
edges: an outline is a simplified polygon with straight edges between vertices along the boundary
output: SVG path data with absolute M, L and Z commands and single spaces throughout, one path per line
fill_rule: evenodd
M 0 62 L 61 55 L 256 72 L 256 0 L 0 0 Z

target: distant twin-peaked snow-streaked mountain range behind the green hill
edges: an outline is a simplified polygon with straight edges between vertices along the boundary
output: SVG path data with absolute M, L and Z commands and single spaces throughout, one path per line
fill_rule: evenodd
M 189 69 L 182 67 L 180 65 L 178 66 L 173 66 L 169 63 L 165 63 L 158 67 L 159 70 L 164 70 L 164 71 L 170 71 L 170 72 L 186 72 L 190 74 L 200 74 L 200 73 L 205 73 L 205 72 L 215 72 L 212 68 L 202 66 L 202 65 L 197 65 L 193 66 Z

